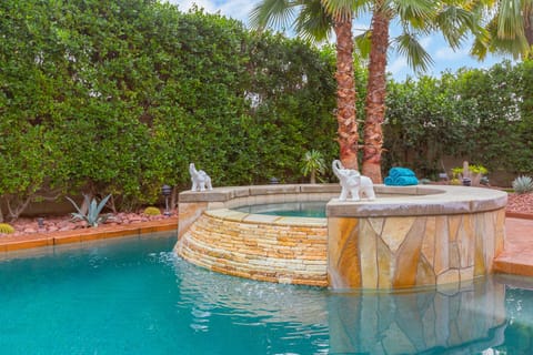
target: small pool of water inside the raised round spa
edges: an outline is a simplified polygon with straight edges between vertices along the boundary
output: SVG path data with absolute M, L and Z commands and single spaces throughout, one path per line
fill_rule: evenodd
M 305 201 L 305 202 L 286 202 L 286 203 L 270 203 L 257 204 L 250 206 L 242 206 L 235 209 L 237 211 L 254 214 L 269 214 L 290 217 L 319 217 L 325 219 L 324 201 Z

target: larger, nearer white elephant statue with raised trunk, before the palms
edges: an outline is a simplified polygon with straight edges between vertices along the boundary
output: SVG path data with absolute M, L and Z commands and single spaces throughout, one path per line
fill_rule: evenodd
M 349 195 L 351 195 L 352 201 L 359 201 L 361 194 L 364 194 L 369 200 L 375 199 L 374 184 L 370 178 L 361 175 L 356 170 L 345 169 L 340 160 L 334 160 L 332 168 L 341 182 L 340 201 L 346 201 Z

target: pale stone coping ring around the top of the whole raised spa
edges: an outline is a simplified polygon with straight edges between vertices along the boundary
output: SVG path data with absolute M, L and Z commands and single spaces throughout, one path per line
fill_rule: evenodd
M 414 185 L 414 186 L 386 186 L 374 185 L 378 197 L 373 201 L 339 201 L 339 199 L 328 199 L 328 217 L 381 217 L 381 216 L 416 216 L 416 215 L 450 215 L 469 214 L 494 211 L 504 209 L 507 203 L 506 192 L 473 186 L 455 185 Z M 285 195 L 289 199 L 280 199 L 283 202 L 302 201 L 298 196 L 313 194 L 319 196 L 325 194 L 331 197 L 340 193 L 339 184 L 275 184 L 275 185 L 252 185 L 252 186 L 227 186 L 214 187 L 210 191 L 193 192 L 185 191 L 180 193 L 181 203 L 214 203 L 218 207 L 208 210 L 228 210 L 215 213 L 219 217 L 243 221 L 244 219 L 260 219 L 260 221 L 272 222 L 272 219 L 265 221 L 263 217 L 251 217 L 253 214 L 231 211 L 232 207 L 247 205 L 248 197 Z M 384 196 L 380 196 L 384 195 Z M 402 197 L 404 195 L 405 197 Z M 240 200 L 242 203 L 230 203 Z M 303 200 L 305 201 L 305 200 Z M 259 203 L 275 203 L 272 201 Z M 278 216 L 278 219 L 280 219 Z M 301 217 L 285 219 L 285 222 L 295 224 Z M 321 220 L 321 219 L 309 219 Z M 291 222 L 292 221 L 292 222 Z M 255 221 L 259 222 L 259 221 Z M 302 221 L 303 222 L 303 221 Z M 316 222 L 316 221 L 315 221 Z M 282 223 L 282 219 L 278 220 Z

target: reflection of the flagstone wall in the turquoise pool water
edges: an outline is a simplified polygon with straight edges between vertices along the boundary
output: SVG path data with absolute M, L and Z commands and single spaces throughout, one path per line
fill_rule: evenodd
M 503 342 L 505 286 L 491 280 L 451 294 L 332 295 L 332 354 L 474 354 Z

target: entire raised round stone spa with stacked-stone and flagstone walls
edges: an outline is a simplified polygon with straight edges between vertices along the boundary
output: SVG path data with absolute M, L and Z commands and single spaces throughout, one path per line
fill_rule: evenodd
M 506 193 L 376 185 L 375 201 L 340 202 L 336 184 L 218 187 L 180 194 L 184 260 L 252 280 L 332 288 L 460 285 L 492 273 L 503 250 Z M 238 211 L 324 201 L 326 219 Z

